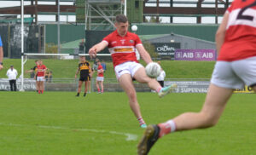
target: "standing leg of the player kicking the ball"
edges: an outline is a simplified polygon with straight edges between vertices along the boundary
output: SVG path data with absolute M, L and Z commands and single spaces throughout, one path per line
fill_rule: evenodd
M 140 111 L 140 106 L 137 103 L 136 90 L 133 86 L 131 75 L 130 74 L 123 74 L 119 78 L 119 84 L 125 90 L 125 93 L 129 98 L 129 103 L 130 103 L 131 110 L 134 113 L 134 115 L 137 117 L 137 120 L 140 123 L 140 126 L 142 128 L 145 128 L 146 123 L 143 120 L 143 117 L 142 117 L 142 114 L 141 114 L 141 111 Z

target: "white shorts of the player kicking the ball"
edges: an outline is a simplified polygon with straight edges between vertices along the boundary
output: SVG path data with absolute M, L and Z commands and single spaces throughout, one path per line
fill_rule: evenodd
M 133 78 L 135 72 L 137 72 L 137 70 L 140 67 L 143 67 L 143 66 L 137 62 L 128 61 L 128 62 L 119 64 L 118 66 L 115 66 L 114 72 L 117 79 L 119 79 L 123 74 L 131 74 L 131 77 Z

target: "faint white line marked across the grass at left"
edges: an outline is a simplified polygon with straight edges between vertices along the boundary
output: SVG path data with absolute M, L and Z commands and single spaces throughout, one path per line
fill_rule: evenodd
M 72 129 L 67 127 L 61 126 L 47 126 L 47 125 L 26 125 L 26 124 L 17 124 L 17 123 L 0 123 L 0 125 L 7 125 L 7 126 L 20 126 L 20 127 L 38 127 L 42 129 L 67 129 L 67 130 L 77 130 L 77 131 L 89 131 L 89 132 L 96 132 L 96 133 L 108 133 L 112 135 L 125 135 L 126 141 L 137 141 L 137 135 L 123 133 L 123 132 L 116 132 L 116 131 L 106 131 L 103 129 Z

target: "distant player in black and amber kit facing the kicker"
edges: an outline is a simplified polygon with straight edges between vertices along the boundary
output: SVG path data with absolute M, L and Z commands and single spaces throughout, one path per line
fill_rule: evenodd
M 80 56 L 79 59 L 80 59 L 79 68 L 75 74 L 75 78 L 77 78 L 80 72 L 79 89 L 78 89 L 78 94 L 76 96 L 79 97 L 82 84 L 84 83 L 84 97 L 85 97 L 88 89 L 88 81 L 90 80 L 91 68 L 90 68 L 90 63 L 85 60 L 85 56 Z

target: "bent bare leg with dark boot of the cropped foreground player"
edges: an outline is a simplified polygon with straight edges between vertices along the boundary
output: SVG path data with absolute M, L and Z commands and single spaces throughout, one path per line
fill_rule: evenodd
M 148 154 L 155 141 L 163 135 L 187 129 L 203 129 L 214 126 L 224 111 L 233 89 L 224 89 L 211 84 L 201 112 L 186 112 L 166 123 L 149 125 L 137 146 L 139 155 Z

